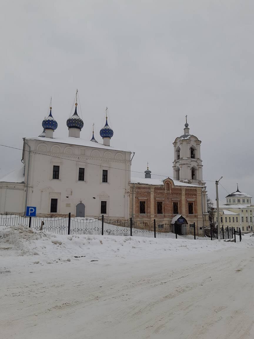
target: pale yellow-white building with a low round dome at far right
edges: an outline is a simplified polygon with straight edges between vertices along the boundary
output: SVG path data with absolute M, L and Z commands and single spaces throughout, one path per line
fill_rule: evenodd
M 237 185 L 237 190 L 226 197 L 227 203 L 219 206 L 220 223 L 224 227 L 235 227 L 236 231 L 240 227 L 241 232 L 252 232 L 254 205 L 251 204 L 251 198 L 250 195 L 240 192 Z M 214 219 L 217 222 L 216 216 Z

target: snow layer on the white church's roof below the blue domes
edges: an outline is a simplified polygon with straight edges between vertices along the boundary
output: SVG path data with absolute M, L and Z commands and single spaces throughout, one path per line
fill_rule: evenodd
M 112 151 L 123 151 L 123 152 L 130 152 L 126 149 L 112 147 L 112 146 L 106 146 L 103 144 L 100 144 L 99 142 L 93 142 L 90 140 L 84 140 L 81 138 L 75 138 L 75 137 L 68 137 L 68 138 L 41 138 L 41 137 L 34 137 L 34 138 L 26 138 L 26 140 L 41 140 L 41 141 L 50 141 L 50 142 L 58 142 L 61 144 L 69 144 L 69 145 L 77 145 L 77 146 L 85 146 L 85 147 L 93 147 L 93 148 L 102 148 L 102 149 L 111 149 Z

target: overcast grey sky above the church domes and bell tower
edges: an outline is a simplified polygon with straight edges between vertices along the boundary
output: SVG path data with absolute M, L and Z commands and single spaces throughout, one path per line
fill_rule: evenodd
M 136 152 L 133 171 L 149 161 L 152 173 L 172 176 L 187 114 L 208 195 L 208 180 L 223 176 L 229 192 L 238 182 L 254 196 L 253 13 L 247 0 L 2 1 L 0 143 L 22 148 L 22 137 L 38 136 L 50 96 L 54 135 L 68 136 L 78 88 L 81 137 L 94 122 L 102 140 L 108 106 L 111 145 Z M 21 151 L 0 147 L 0 159 L 1 177 Z

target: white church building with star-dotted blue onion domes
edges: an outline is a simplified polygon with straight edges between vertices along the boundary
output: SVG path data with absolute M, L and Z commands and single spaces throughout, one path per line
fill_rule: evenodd
M 69 136 L 55 138 L 52 107 L 43 133 L 23 138 L 23 166 L 0 179 L 0 213 L 21 213 L 36 206 L 37 215 L 129 217 L 131 153 L 110 145 L 106 124 L 90 141 L 80 138 L 84 125 L 77 112 L 67 120 Z

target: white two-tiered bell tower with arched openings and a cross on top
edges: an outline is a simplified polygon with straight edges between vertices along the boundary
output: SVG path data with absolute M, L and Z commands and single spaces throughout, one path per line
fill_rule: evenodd
M 173 142 L 174 161 L 173 161 L 173 178 L 189 184 L 206 186 L 203 181 L 202 160 L 200 154 L 201 141 L 190 134 L 189 124 L 184 125 L 184 134 L 177 137 Z M 207 196 L 206 190 L 202 192 L 203 213 L 207 213 Z

